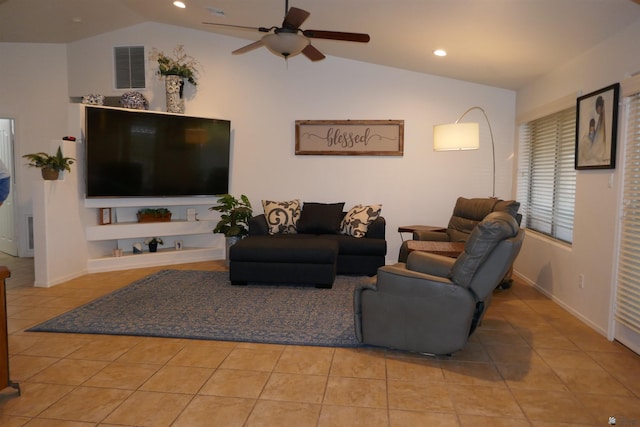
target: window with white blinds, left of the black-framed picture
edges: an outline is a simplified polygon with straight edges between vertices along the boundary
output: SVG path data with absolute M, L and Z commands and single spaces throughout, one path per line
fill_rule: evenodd
M 522 224 L 569 243 L 576 193 L 575 131 L 575 107 L 521 125 L 518 161 Z

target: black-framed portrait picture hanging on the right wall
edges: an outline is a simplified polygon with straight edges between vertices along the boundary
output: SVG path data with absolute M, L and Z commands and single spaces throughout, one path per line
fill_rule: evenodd
M 578 98 L 576 169 L 616 167 L 619 93 L 616 83 Z

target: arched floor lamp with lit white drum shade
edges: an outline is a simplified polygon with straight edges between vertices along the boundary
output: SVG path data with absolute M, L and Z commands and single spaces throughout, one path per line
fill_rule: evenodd
M 493 191 L 491 197 L 496 197 L 496 145 L 493 142 L 493 130 L 487 113 L 480 107 L 471 107 L 455 123 L 436 125 L 433 127 L 433 150 L 477 150 L 480 148 L 480 125 L 478 123 L 460 123 L 460 120 L 470 111 L 480 110 L 489 125 L 491 135 L 491 151 L 493 153 Z

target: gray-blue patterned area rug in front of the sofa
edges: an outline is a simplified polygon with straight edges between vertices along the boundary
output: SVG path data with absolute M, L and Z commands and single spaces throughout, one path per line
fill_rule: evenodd
M 228 272 L 163 270 L 28 331 L 357 347 L 353 291 L 365 283 L 231 286 Z

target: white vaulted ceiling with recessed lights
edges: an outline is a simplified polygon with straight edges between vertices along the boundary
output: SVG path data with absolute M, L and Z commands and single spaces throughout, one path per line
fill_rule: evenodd
M 203 21 L 271 27 L 285 14 L 285 0 L 183 1 L 186 9 L 172 0 L 0 0 L 0 42 L 68 43 L 152 21 L 237 37 L 240 48 L 264 33 Z M 371 35 L 368 44 L 314 39 L 326 55 L 515 90 L 640 20 L 639 2 L 290 0 L 289 6 L 311 13 L 302 29 Z M 448 56 L 434 56 L 435 49 Z

